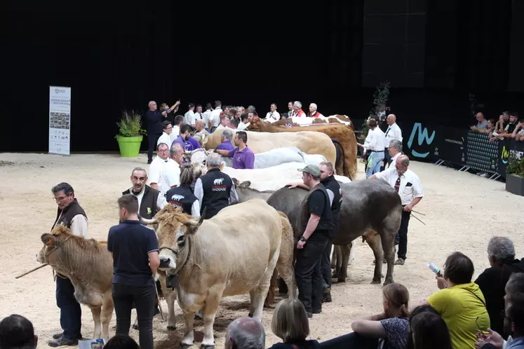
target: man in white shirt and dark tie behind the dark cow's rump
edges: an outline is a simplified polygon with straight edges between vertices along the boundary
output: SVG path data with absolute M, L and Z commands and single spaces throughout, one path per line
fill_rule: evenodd
M 408 224 L 410 223 L 411 210 L 424 196 L 424 189 L 422 189 L 419 177 L 415 175 L 415 172 L 408 169 L 409 165 L 410 159 L 408 156 L 401 155 L 398 156 L 395 162 L 396 171 L 388 169 L 370 177 L 372 179 L 384 179 L 401 196 L 403 207 L 401 228 L 398 229 L 395 238 L 396 242 L 398 238 L 398 259 L 395 262 L 398 266 L 404 265 L 406 253 L 408 252 Z

